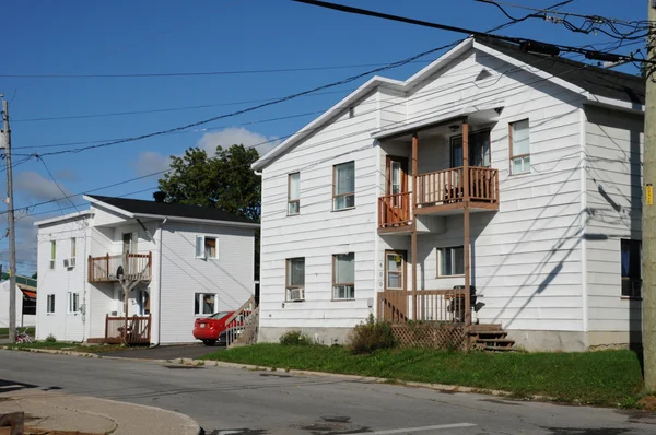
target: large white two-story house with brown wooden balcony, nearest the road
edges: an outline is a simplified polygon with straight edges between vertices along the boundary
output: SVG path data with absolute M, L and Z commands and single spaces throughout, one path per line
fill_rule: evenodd
M 643 104 L 637 77 L 478 37 L 371 79 L 254 164 L 260 340 L 373 314 L 640 341 Z

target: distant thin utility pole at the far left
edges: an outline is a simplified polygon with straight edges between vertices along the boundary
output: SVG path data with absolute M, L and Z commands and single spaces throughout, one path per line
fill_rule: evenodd
M 16 341 L 16 234 L 13 214 L 13 179 L 11 175 L 11 129 L 9 127 L 9 104 L 2 99 L 4 120 L 4 158 L 7 161 L 7 204 L 9 208 L 9 340 Z

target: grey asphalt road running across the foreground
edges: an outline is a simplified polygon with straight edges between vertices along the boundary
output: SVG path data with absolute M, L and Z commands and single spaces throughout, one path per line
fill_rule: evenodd
M 637 411 L 149 361 L 0 351 L 3 381 L 183 412 L 213 435 L 656 434 L 656 415 Z

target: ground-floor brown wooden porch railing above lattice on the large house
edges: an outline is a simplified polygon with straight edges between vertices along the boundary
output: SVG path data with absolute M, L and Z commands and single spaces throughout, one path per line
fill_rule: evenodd
M 414 318 L 413 306 L 417 305 Z M 467 313 L 465 290 L 388 290 L 378 293 L 378 318 L 393 324 L 410 320 L 462 324 Z

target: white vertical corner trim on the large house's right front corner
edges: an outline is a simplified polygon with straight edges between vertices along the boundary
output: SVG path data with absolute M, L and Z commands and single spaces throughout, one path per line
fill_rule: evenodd
M 583 334 L 585 350 L 588 348 L 588 275 L 587 275 L 587 243 L 585 233 L 587 228 L 587 158 L 586 158 L 586 122 L 585 109 L 578 109 L 581 134 L 581 296 L 583 297 Z

